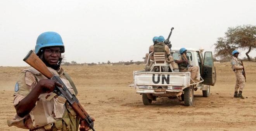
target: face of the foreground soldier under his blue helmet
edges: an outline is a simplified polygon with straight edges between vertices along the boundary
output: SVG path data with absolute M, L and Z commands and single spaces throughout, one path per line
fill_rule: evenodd
M 44 52 L 45 61 L 55 66 L 61 57 L 61 47 L 47 47 Z

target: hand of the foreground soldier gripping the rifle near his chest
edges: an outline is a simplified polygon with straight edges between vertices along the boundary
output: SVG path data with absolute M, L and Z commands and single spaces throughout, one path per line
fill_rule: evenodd
M 55 86 L 62 87 L 61 84 L 59 84 L 58 82 L 55 82 L 51 79 L 42 79 L 37 84 L 39 84 L 41 93 L 52 92 L 54 90 Z

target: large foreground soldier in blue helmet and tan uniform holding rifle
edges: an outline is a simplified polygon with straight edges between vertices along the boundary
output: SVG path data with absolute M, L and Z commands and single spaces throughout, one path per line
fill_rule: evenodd
M 61 36 L 56 32 L 44 32 L 36 40 L 35 53 L 52 74 L 59 76 L 72 94 L 77 94 L 73 81 L 61 67 L 61 53 L 65 52 Z M 71 86 L 72 85 L 72 86 Z M 30 131 L 86 131 L 90 128 L 76 115 L 64 97 L 53 93 L 61 84 L 47 79 L 33 67 L 25 69 L 14 89 L 16 116 L 8 120 L 8 126 Z M 94 121 L 94 119 L 93 119 Z

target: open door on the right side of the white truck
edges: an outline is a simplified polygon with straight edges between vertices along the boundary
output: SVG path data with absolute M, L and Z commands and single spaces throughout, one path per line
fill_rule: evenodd
M 216 82 L 216 68 L 213 64 L 213 54 L 211 51 L 204 53 L 204 64 L 202 71 L 203 84 L 214 86 Z

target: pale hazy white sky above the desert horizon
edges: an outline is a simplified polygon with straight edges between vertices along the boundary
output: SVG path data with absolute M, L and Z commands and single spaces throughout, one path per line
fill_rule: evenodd
M 142 61 L 152 37 L 168 37 L 171 27 L 173 47 L 213 51 L 228 27 L 256 25 L 255 5 L 256 0 L 0 0 L 0 66 L 28 66 L 22 59 L 46 31 L 61 35 L 67 62 Z

